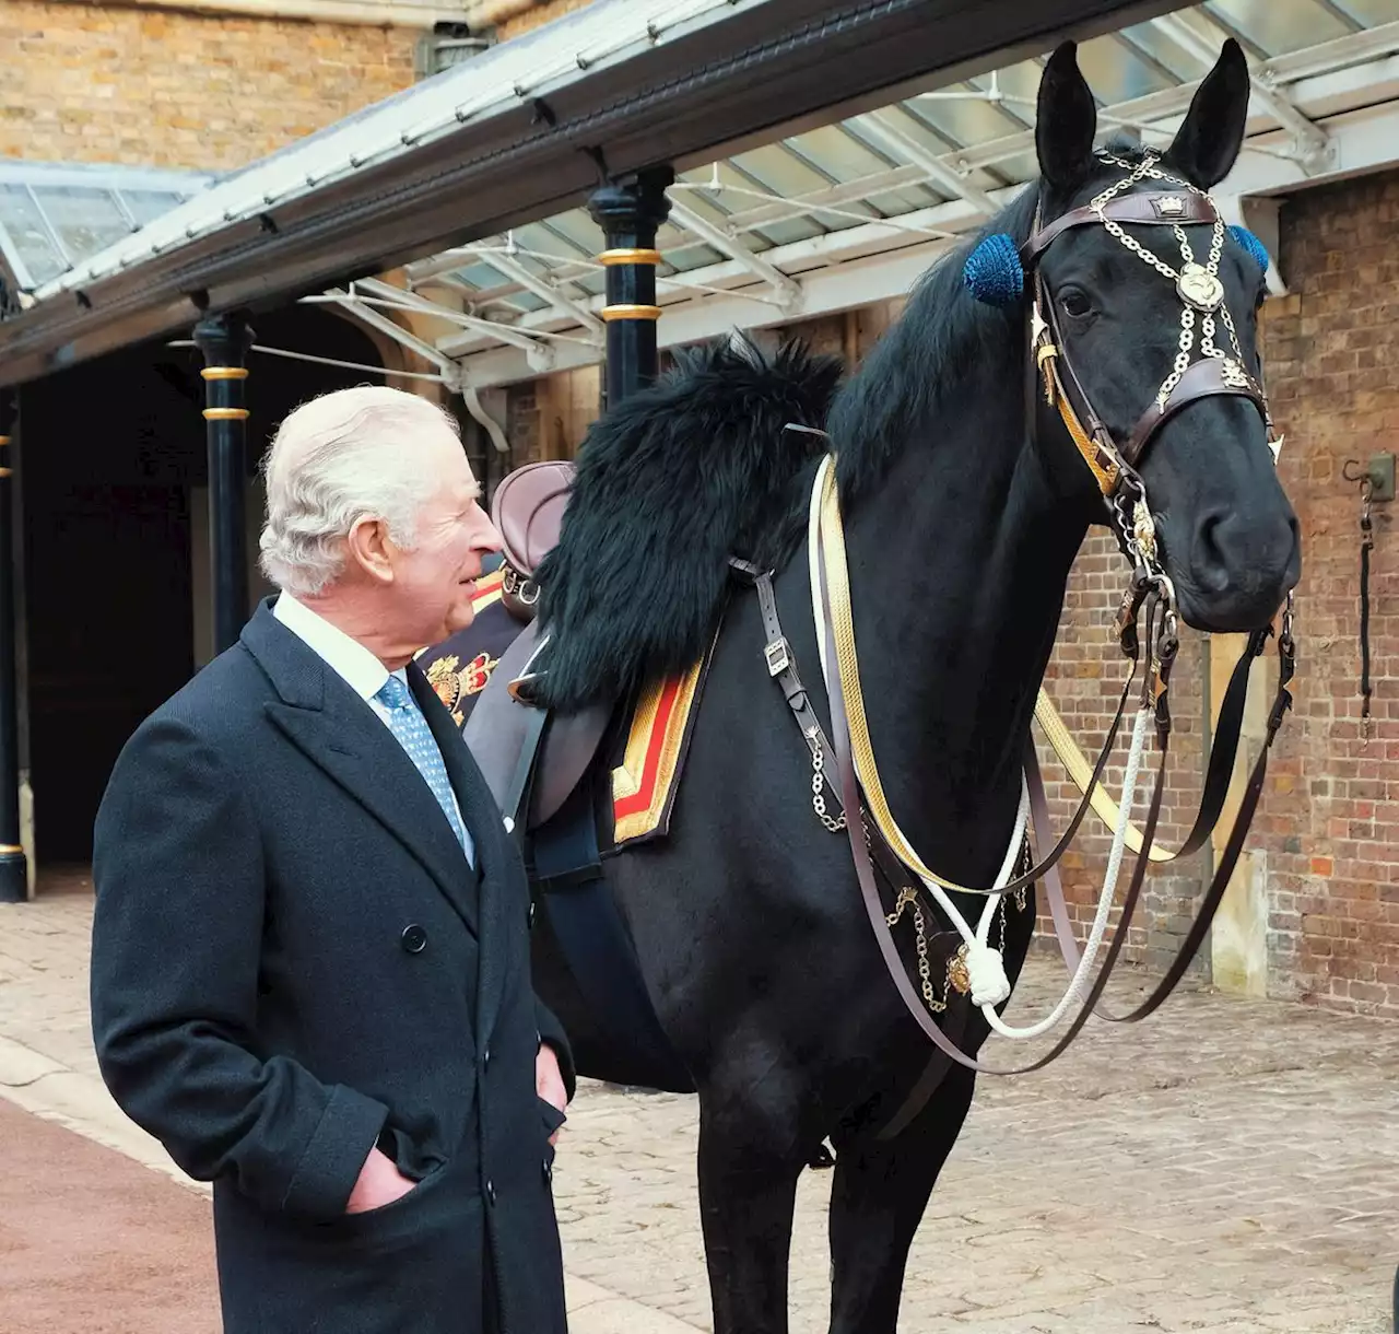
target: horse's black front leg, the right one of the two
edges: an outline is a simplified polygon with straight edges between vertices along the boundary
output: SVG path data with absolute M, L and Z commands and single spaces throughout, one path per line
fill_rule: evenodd
M 908 1247 L 957 1142 L 975 1076 L 947 1074 L 897 1139 L 835 1142 L 831 1187 L 831 1334 L 894 1334 Z

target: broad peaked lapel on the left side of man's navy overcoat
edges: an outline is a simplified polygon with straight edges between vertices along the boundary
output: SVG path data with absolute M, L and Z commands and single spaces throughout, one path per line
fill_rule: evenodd
M 267 705 L 271 721 L 422 864 L 480 935 L 471 869 L 393 733 L 318 654 L 277 622 L 270 602 L 248 623 L 242 638 L 281 696 Z

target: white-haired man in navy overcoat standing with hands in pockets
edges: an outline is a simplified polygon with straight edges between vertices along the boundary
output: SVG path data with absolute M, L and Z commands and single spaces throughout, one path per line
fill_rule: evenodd
M 98 815 L 102 1075 L 214 1183 L 227 1334 L 562 1334 L 568 1047 L 518 852 L 413 664 L 499 539 L 452 420 L 393 389 L 297 409 L 266 476 L 281 594 Z

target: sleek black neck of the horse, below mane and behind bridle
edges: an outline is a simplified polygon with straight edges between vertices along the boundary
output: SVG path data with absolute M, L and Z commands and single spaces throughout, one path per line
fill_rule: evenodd
M 944 875 L 985 880 L 1020 796 L 1035 691 L 1083 540 L 1056 504 L 1014 368 L 947 395 L 848 524 L 860 676 L 884 788 Z

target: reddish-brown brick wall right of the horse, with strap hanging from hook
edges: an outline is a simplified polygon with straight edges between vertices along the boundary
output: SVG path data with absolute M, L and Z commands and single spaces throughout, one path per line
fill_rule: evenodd
M 1302 525 L 1298 708 L 1265 798 L 1276 990 L 1399 1013 L 1399 531 L 1375 507 L 1374 725 L 1360 722 L 1358 498 L 1347 458 L 1399 451 L 1399 172 L 1283 210 L 1291 295 L 1267 314 L 1267 372 Z

